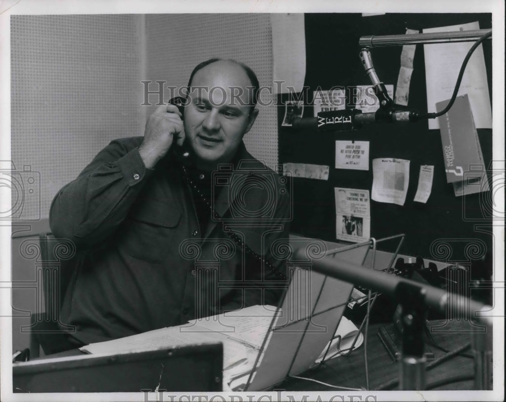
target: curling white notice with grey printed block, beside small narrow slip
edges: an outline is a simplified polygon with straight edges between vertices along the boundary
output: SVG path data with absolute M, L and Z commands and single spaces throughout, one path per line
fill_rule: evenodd
M 409 184 L 409 161 L 396 158 L 372 160 L 374 201 L 404 205 Z

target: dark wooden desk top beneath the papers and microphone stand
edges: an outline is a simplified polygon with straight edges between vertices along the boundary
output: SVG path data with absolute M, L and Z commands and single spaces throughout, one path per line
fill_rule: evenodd
M 442 326 L 444 320 L 432 321 L 431 326 Z M 392 362 L 385 347 L 379 341 L 377 331 L 381 325 L 374 324 L 369 326 L 367 354 L 369 365 L 369 386 L 371 389 L 377 387 L 393 378 L 398 378 L 399 365 L 397 362 Z M 386 324 L 389 326 L 391 324 Z M 469 329 L 469 323 L 465 321 L 448 322 L 443 327 L 446 332 L 433 333 L 435 341 L 442 347 L 448 350 L 454 350 L 471 341 L 471 335 L 466 332 Z M 460 332 L 456 332 L 460 331 Z M 444 354 L 443 351 L 428 345 L 433 351 L 436 359 Z M 471 353 L 471 351 L 467 351 Z M 51 358 L 62 356 L 79 355 L 81 352 L 78 349 L 69 350 L 61 353 L 52 354 Z M 47 359 L 47 356 L 38 359 Z M 38 360 L 37 359 L 37 360 Z M 427 384 L 436 380 L 453 377 L 456 375 L 473 375 L 473 359 L 463 356 L 454 356 L 450 360 L 442 363 L 441 365 L 429 370 L 427 372 Z M 318 381 L 326 382 L 332 385 L 345 386 L 350 388 L 360 388 L 366 385 L 365 369 L 364 369 L 364 346 L 355 350 L 349 356 L 340 356 L 339 358 L 331 359 L 322 366 L 310 370 L 301 376 L 312 378 Z M 275 389 L 283 389 L 289 391 L 330 391 L 333 388 L 318 384 L 312 381 L 300 379 L 288 379 L 284 381 Z M 392 389 L 398 389 L 394 387 Z M 473 381 L 457 382 L 448 384 L 437 389 L 441 390 L 460 390 L 460 389 L 473 389 Z

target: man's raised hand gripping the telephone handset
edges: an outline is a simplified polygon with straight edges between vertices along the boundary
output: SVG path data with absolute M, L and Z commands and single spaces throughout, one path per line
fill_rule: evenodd
M 144 131 L 144 140 L 139 147 L 139 154 L 148 169 L 155 167 L 156 163 L 171 149 L 174 141 L 183 145 L 185 130 L 183 115 L 175 105 L 159 106 L 149 116 Z

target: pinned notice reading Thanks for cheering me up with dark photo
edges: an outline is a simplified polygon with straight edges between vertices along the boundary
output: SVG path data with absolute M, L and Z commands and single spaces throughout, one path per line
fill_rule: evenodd
M 369 190 L 334 188 L 335 237 L 349 242 L 369 239 L 371 232 Z

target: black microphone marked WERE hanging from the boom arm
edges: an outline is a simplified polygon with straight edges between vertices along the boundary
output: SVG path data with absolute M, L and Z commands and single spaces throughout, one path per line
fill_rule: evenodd
M 362 128 L 363 124 L 417 121 L 416 110 L 399 111 L 379 108 L 375 112 L 362 113 L 358 109 L 331 110 L 319 112 L 316 117 L 294 118 L 292 127 L 317 131 L 349 131 Z

